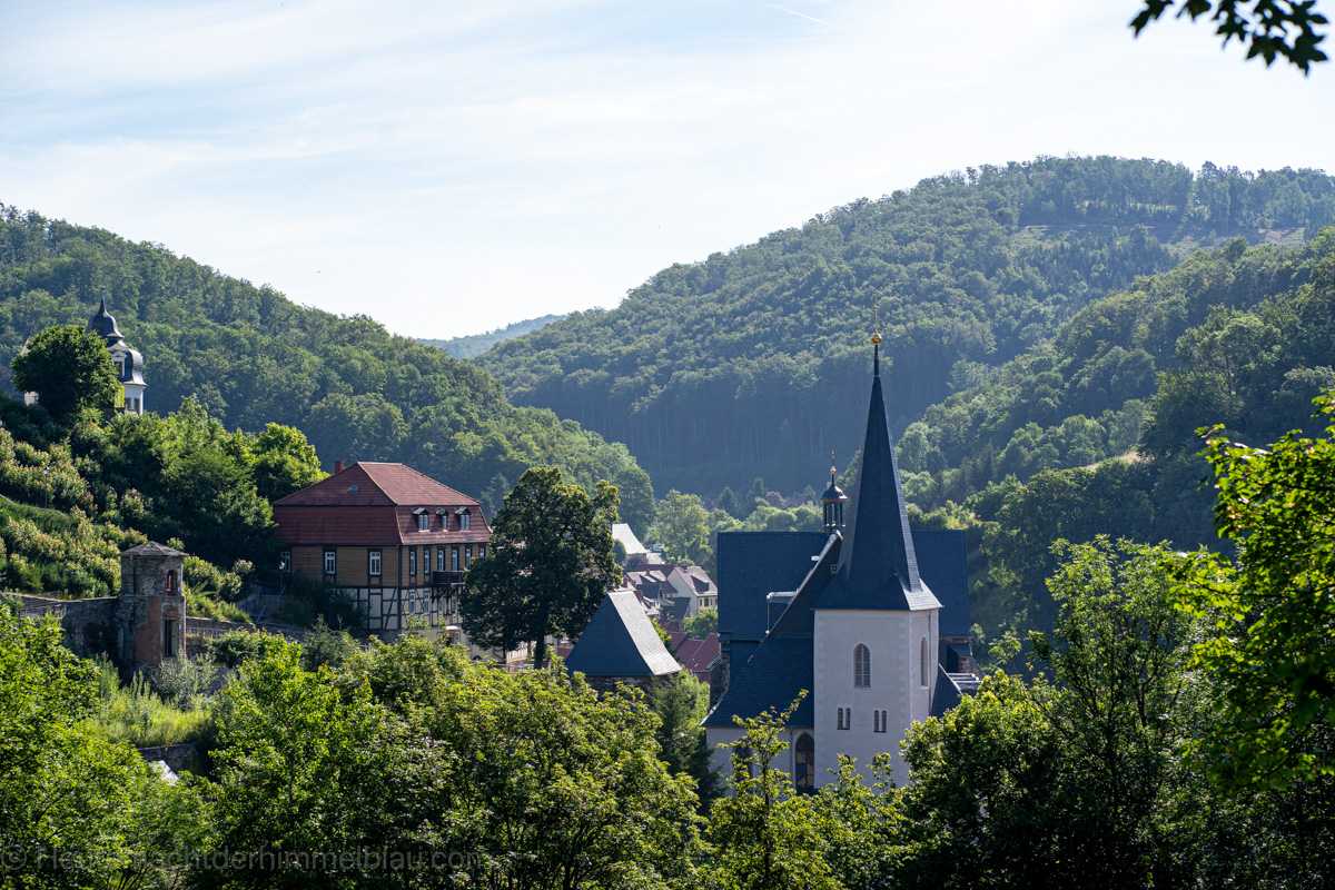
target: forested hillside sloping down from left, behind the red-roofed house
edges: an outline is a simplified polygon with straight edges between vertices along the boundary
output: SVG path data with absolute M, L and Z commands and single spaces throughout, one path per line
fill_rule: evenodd
M 622 515 L 641 531 L 651 515 L 649 478 L 623 446 L 550 411 L 513 407 L 473 364 L 160 246 L 3 205 L 0 383 L 29 336 L 84 324 L 100 286 L 144 354 L 152 411 L 195 395 L 228 428 L 299 427 L 326 470 L 334 459 L 402 460 L 493 508 L 530 464 L 558 464 L 585 484 L 617 484 Z

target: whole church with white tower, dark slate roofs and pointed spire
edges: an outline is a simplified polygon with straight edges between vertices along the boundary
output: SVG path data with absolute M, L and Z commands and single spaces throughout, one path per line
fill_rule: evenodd
M 742 737 L 734 718 L 785 711 L 788 749 L 773 765 L 798 791 L 833 779 L 838 757 L 862 775 L 881 753 L 908 774 L 900 742 L 977 689 L 963 531 L 910 531 L 872 338 L 872 398 L 853 498 L 834 483 L 820 532 L 718 535 L 721 654 L 717 699 L 704 721 L 714 769 L 726 774 Z M 848 522 L 845 524 L 845 507 Z

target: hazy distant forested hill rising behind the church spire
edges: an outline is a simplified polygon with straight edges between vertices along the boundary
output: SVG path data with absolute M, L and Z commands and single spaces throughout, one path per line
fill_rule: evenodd
M 615 310 L 477 362 L 517 404 L 627 443 L 659 488 L 713 496 L 764 475 L 801 490 L 830 450 L 842 463 L 856 448 L 877 298 L 904 424 L 1200 246 L 1295 243 L 1332 220 L 1335 181 L 1312 171 L 1193 175 L 1113 157 L 971 168 L 673 266 Z

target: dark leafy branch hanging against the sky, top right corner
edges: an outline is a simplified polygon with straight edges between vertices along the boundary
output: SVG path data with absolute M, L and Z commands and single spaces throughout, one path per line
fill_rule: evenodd
M 1314 11 L 1315 0 L 1251 0 L 1250 9 L 1247 0 L 1144 0 L 1144 4 L 1131 20 L 1136 36 L 1164 12 L 1180 5 L 1179 17 L 1191 16 L 1195 21 L 1210 15 L 1219 23 L 1215 33 L 1224 39 L 1226 47 L 1230 40 L 1250 44 L 1247 57 L 1260 56 L 1266 65 L 1280 57 L 1307 75 L 1312 63 L 1327 57 L 1316 45 L 1326 39 L 1316 33 L 1316 25 L 1328 24 L 1328 20 Z

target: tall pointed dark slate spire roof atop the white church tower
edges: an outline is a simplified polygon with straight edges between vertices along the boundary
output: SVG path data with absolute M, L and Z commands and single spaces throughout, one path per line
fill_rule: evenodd
M 939 608 L 941 603 L 918 576 L 904 488 L 885 418 L 880 346 L 873 362 L 862 459 L 849 504 L 852 518 L 838 572 L 816 608 Z

